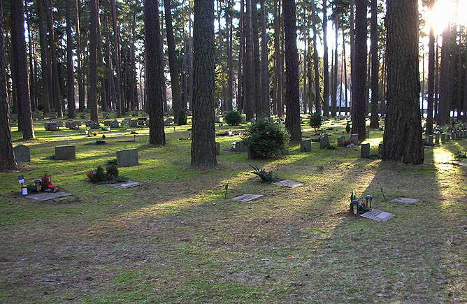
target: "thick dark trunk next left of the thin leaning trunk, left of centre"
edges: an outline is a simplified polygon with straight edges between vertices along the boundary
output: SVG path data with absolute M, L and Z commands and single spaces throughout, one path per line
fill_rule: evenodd
M 151 145 L 165 145 L 166 135 L 164 133 L 164 105 L 162 103 L 162 79 L 161 79 L 161 47 L 159 41 L 159 1 L 144 1 L 144 25 L 145 25 L 145 71 L 146 90 L 149 105 L 149 143 Z

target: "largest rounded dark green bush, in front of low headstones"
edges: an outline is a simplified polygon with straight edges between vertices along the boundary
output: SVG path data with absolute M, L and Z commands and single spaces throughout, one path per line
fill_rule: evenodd
M 282 130 L 279 124 L 269 121 L 259 121 L 247 127 L 243 137 L 254 158 L 267 158 L 280 155 L 289 145 L 289 134 Z

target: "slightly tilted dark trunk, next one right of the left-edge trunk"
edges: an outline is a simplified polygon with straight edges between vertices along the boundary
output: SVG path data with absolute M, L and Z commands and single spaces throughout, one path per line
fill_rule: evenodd
M 21 1 L 11 0 L 11 49 L 13 65 L 15 66 L 16 93 L 18 103 L 18 117 L 21 120 L 22 138 L 34 138 L 32 125 L 31 101 L 29 100 L 29 82 L 27 72 L 26 41 L 24 38 L 24 13 Z M 4 136 L 4 134 L 2 135 Z

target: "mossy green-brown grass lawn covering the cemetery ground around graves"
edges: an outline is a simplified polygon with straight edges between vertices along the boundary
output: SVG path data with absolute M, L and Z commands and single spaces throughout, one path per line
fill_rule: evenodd
M 425 163 L 410 166 L 361 159 L 359 147 L 319 150 L 319 143 L 310 153 L 291 143 L 288 156 L 252 161 L 227 151 L 239 136 L 219 136 L 218 168 L 195 171 L 190 127 L 166 126 L 165 147 L 148 145 L 148 128 L 136 129 L 134 142 L 133 128 L 105 132 L 106 145 L 85 145 L 100 130 L 88 138 L 36 122 L 37 138 L 24 142 L 13 128 L 13 145 L 28 145 L 31 163 L 0 173 L 0 302 L 467 302 L 467 168 L 451 163 L 453 153 L 467 150 L 466 139 L 425 147 Z M 322 130 L 331 127 L 331 144 L 348 138 L 344 120 Z M 375 154 L 382 131 L 370 134 Z M 49 159 L 56 145 L 69 144 L 76 160 Z M 142 187 L 87 181 L 88 171 L 132 147 L 140 165 L 120 175 Z M 249 164 L 304 186 L 263 184 Z M 32 183 L 44 173 L 73 198 L 22 198 L 17 175 Z M 225 200 L 225 184 L 227 198 L 264 196 Z M 396 217 L 350 215 L 352 189 Z M 401 196 L 420 202 L 389 202 Z

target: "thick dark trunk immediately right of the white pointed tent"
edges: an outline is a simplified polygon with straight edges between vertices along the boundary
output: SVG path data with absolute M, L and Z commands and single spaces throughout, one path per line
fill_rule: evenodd
M 394 1 L 394 0 L 392 0 Z M 355 6 L 355 78 L 352 90 L 355 99 L 352 102 L 352 133 L 359 134 L 359 140 L 364 140 L 366 116 L 366 0 L 357 0 Z

